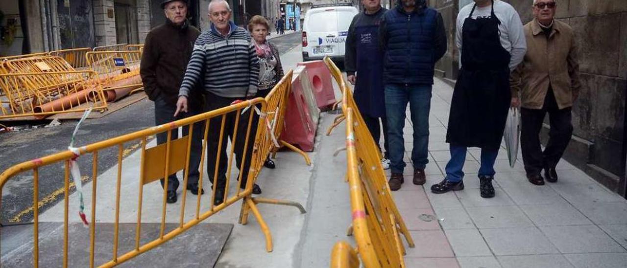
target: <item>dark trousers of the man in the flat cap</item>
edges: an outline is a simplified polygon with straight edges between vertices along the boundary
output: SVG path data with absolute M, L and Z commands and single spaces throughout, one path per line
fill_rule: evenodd
M 164 98 L 161 96 L 157 97 L 155 100 L 155 125 L 162 125 L 165 123 L 169 123 L 171 121 L 179 120 L 182 118 L 186 118 L 192 115 L 198 115 L 201 111 L 201 107 L 189 107 L 189 111 L 187 113 L 180 113 L 176 118 L 174 117 L 174 111 L 176 111 L 176 105 L 171 103 L 167 103 Z M 196 123 L 194 124 L 194 129 L 192 130 L 192 143 L 189 152 L 189 176 L 187 178 L 188 185 L 198 184 L 198 178 L 200 177 L 200 173 L 198 172 L 198 167 L 200 166 L 200 157 L 203 152 L 203 132 L 204 124 Z M 183 127 L 183 136 L 189 135 L 189 127 Z M 179 137 L 178 128 L 171 130 L 172 136 L 171 140 L 176 140 Z M 157 134 L 157 144 L 162 144 L 167 142 L 167 131 Z M 164 179 L 161 179 L 161 186 L 163 186 Z M 169 175 L 167 179 L 167 189 L 174 190 L 179 188 L 179 179 L 176 177 L 176 173 Z

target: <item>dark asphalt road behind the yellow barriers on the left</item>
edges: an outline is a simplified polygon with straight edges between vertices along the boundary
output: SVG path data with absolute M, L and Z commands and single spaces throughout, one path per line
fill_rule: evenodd
M 287 34 L 271 39 L 281 54 L 301 42 L 300 33 Z M 6 125 L 6 122 L 0 121 Z M 38 124 L 48 123 L 39 121 Z M 33 160 L 66 150 L 78 120 L 61 121 L 61 125 L 41 128 L 26 128 L 20 131 L 0 133 L 0 172 L 21 162 Z M 115 111 L 103 118 L 87 120 L 78 131 L 75 146 L 83 146 L 107 138 L 142 130 L 154 125 L 154 105 L 147 99 Z M 125 148 L 136 150 L 139 141 L 125 144 Z M 129 155 L 132 150 L 125 152 Z M 98 153 L 98 174 L 117 163 L 117 148 Z M 78 158 L 82 171 L 90 175 L 92 158 Z M 63 200 L 63 163 L 50 165 L 39 170 L 40 213 Z M 85 178 L 87 181 L 91 178 Z M 29 222 L 33 219 L 33 174 L 24 172 L 11 178 L 2 191 L 0 222 Z

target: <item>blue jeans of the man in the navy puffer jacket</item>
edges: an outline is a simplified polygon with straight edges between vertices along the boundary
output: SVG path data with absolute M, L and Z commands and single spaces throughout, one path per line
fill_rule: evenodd
M 411 110 L 414 148 L 411 150 L 411 162 L 414 168 L 426 167 L 429 145 L 429 110 L 431 110 L 431 85 L 388 84 L 385 88 L 387 135 L 389 137 L 389 159 L 393 173 L 403 173 L 406 164 L 403 161 L 405 140 L 403 128 L 407 103 Z

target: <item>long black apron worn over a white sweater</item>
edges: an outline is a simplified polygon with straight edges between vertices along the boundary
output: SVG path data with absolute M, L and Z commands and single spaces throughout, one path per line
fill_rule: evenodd
M 462 28 L 461 70 L 453 91 L 446 142 L 497 149 L 512 98 L 511 56 L 500 42 L 494 1 L 490 18 L 473 19 L 476 7 Z

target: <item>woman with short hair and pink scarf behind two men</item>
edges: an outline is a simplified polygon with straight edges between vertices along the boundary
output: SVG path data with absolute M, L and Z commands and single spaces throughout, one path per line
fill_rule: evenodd
M 268 93 L 270 93 L 270 90 L 277 85 L 278 81 L 283 78 L 281 58 L 279 57 L 277 47 L 266 39 L 267 34 L 270 33 L 270 23 L 268 23 L 265 18 L 258 15 L 253 16 L 253 18 L 250 19 L 250 23 L 248 23 L 248 31 L 250 31 L 251 36 L 253 36 L 253 45 L 255 46 L 257 59 L 259 61 L 259 87 L 257 97 L 265 98 L 268 96 Z M 259 116 L 253 116 L 255 116 L 253 126 L 256 126 Z M 256 131 L 254 133 L 256 133 Z M 253 137 L 254 136 L 255 135 L 253 135 Z M 275 168 L 275 163 L 270 157 L 266 158 L 263 165 L 266 168 Z

